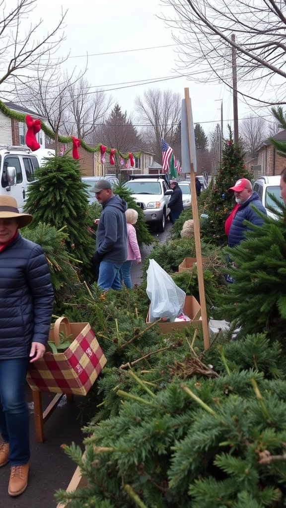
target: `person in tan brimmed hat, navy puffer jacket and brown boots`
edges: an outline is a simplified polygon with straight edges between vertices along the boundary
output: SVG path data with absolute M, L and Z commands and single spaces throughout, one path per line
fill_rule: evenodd
M 18 229 L 32 215 L 19 213 L 14 198 L 0 196 L 0 467 L 10 463 L 10 496 L 27 487 L 29 414 L 24 390 L 29 362 L 45 352 L 53 289 L 40 245 Z

